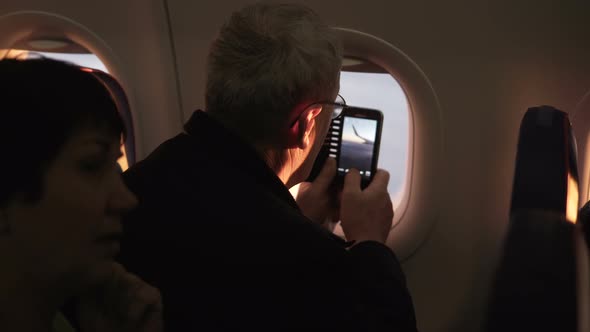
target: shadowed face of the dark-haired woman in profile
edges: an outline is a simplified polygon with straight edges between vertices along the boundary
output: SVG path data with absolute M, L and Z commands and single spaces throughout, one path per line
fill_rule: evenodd
M 80 130 L 48 165 L 41 199 L 7 208 L 23 277 L 77 289 L 100 281 L 119 249 L 120 217 L 137 200 L 116 166 L 120 141 Z

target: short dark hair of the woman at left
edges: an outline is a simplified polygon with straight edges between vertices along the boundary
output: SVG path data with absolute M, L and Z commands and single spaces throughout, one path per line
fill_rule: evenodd
M 125 126 L 109 90 L 80 67 L 49 60 L 0 60 L 0 206 L 43 194 L 47 166 L 83 129 L 115 137 Z

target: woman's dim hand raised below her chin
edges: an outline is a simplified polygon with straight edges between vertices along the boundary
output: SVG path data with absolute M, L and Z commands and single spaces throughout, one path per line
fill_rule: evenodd
M 110 278 L 79 302 L 81 332 L 161 332 L 160 292 L 113 262 Z

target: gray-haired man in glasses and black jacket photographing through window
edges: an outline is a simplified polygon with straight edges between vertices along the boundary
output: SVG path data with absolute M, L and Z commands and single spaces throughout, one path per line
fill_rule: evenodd
M 166 330 L 416 331 L 389 174 L 339 195 L 329 160 L 297 202 L 339 101 L 338 38 L 302 5 L 254 4 L 213 42 L 206 112 L 125 173 L 121 261 L 158 287 Z M 338 216 L 348 242 L 324 221 Z

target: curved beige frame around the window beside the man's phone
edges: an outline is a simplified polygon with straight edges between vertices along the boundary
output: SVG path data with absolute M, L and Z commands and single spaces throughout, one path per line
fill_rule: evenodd
M 341 27 L 334 30 L 342 40 L 344 56 L 385 69 L 407 97 L 410 123 L 405 194 L 387 239 L 387 245 L 403 262 L 427 240 L 440 210 L 443 182 L 439 171 L 444 174 L 440 103 L 428 77 L 400 49 L 364 32 Z

